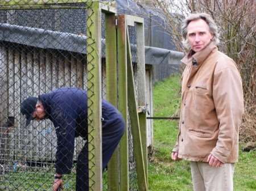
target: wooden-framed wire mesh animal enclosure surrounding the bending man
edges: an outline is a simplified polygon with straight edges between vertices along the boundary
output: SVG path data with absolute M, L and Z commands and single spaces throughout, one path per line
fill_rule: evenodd
M 75 140 L 64 189 L 75 190 L 77 155 L 88 142 L 89 190 L 147 190 L 143 20 L 116 16 L 109 3 L 66 2 L 1 6 L 0 190 L 51 190 L 55 128 L 49 120 L 25 127 L 20 103 L 59 87 L 88 92 L 88 139 Z M 119 109 L 127 127 L 103 181 L 101 99 Z

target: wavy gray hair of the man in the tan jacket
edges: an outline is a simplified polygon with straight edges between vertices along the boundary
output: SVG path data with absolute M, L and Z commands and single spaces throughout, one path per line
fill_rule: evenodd
M 193 20 L 198 20 L 198 19 L 203 19 L 208 24 L 208 26 L 210 28 L 210 33 L 212 33 L 212 35 L 213 35 L 212 41 L 215 45 L 218 45 L 218 43 L 220 43 L 220 40 L 218 39 L 218 37 L 220 35 L 218 33 L 218 27 L 217 27 L 216 23 L 214 22 L 214 20 L 212 19 L 212 17 L 209 14 L 207 14 L 205 12 L 201 12 L 201 13 L 189 15 L 182 22 L 182 25 L 181 25 L 181 32 L 182 32 L 182 36 L 183 36 L 182 43 L 185 46 L 185 48 L 188 48 L 188 49 L 191 48 L 190 45 L 188 44 L 188 40 L 187 40 L 188 24 L 190 22 L 192 22 Z

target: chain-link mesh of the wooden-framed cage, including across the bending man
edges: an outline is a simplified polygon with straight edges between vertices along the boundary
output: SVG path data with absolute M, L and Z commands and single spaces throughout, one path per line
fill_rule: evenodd
M 95 12 L 86 15 L 85 3 L 51 4 L 49 9 L 31 7 L 0 10 L 0 190 L 52 190 L 53 175 L 67 172 L 70 173 L 63 176 L 64 190 L 76 190 L 76 186 L 88 188 L 97 183 L 92 174 L 88 175 L 87 162 L 91 160 L 94 165 L 89 168 L 98 165 L 94 162 L 93 143 L 90 147 L 94 133 L 84 128 L 91 125 L 89 129 L 95 129 L 89 115 L 94 114 L 91 108 L 94 98 L 91 97 L 97 94 L 92 81 L 96 50 L 90 46 L 95 44 L 94 39 L 88 43 L 88 31 L 86 34 L 88 27 L 95 24 L 90 20 Z M 104 38 L 104 14 L 101 18 Z M 130 29 L 133 44 L 136 43 L 135 28 Z M 100 43 L 104 55 L 104 40 L 100 39 Z M 132 49 L 137 87 L 137 56 L 135 48 Z M 101 55 L 98 59 L 101 60 Z M 104 59 L 101 79 L 101 96 L 105 99 Z M 69 88 L 49 93 L 61 87 Z M 88 92 L 88 100 L 84 90 Z M 46 111 L 42 118 L 48 119 L 33 120 L 26 126 L 26 118 L 20 112 L 22 103 L 27 97 L 38 96 L 38 105 L 42 103 Z M 84 104 L 87 101 L 88 105 Z M 62 126 L 67 129 L 61 130 Z M 75 130 L 71 130 L 72 127 Z M 130 128 L 129 122 L 130 190 L 138 190 Z M 85 157 L 88 149 L 92 151 L 89 159 Z M 81 172 L 78 169 L 82 169 Z M 108 189 L 107 176 L 106 171 L 104 190 Z M 90 185 L 88 179 L 93 179 Z

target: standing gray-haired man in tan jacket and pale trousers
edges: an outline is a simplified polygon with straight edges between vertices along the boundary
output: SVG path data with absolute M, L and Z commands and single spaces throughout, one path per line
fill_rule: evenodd
M 182 26 L 190 49 L 181 60 L 179 134 L 173 160 L 191 161 L 195 191 L 232 191 L 243 114 L 242 80 L 236 63 L 217 49 L 210 15 L 191 14 Z

